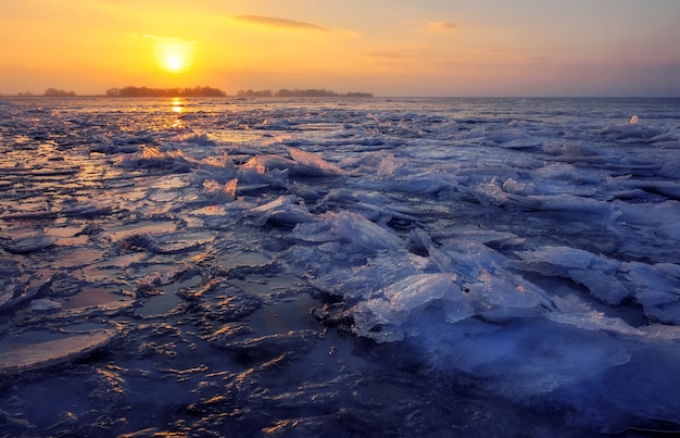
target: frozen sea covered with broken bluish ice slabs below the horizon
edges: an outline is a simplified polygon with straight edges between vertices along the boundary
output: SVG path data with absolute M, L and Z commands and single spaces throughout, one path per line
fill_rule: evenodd
M 680 430 L 680 100 L 0 99 L 0 436 Z

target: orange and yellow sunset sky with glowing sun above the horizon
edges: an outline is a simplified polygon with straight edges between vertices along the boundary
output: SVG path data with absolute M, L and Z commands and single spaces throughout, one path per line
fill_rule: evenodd
M 0 93 L 680 97 L 679 0 L 0 0 Z

